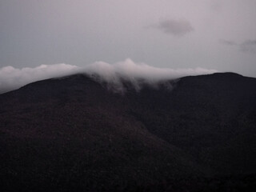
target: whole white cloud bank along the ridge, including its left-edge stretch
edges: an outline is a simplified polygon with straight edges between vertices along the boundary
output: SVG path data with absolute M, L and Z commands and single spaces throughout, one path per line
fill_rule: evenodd
M 123 62 L 109 64 L 107 62 L 94 62 L 87 66 L 72 66 L 68 64 L 41 65 L 34 68 L 22 69 L 13 66 L 0 68 L 0 93 L 14 90 L 30 82 L 46 78 L 58 78 L 70 74 L 84 73 L 89 75 L 97 74 L 101 81 L 122 85 L 121 78 L 130 81 L 136 89 L 139 89 L 139 82 L 149 84 L 156 82 L 181 78 L 187 75 L 212 74 L 217 70 L 203 68 L 195 69 L 170 69 L 148 66 L 145 63 L 136 63 L 131 59 Z

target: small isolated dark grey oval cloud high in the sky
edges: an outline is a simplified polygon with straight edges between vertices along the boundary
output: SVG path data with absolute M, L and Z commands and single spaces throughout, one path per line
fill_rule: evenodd
M 174 19 L 160 21 L 157 25 L 154 25 L 154 28 L 162 30 L 166 34 L 173 34 L 174 36 L 183 36 L 194 30 L 187 20 Z

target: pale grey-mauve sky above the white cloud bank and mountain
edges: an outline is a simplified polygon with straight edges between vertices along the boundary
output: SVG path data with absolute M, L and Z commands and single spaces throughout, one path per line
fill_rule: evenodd
M 0 0 L 0 68 L 126 58 L 256 77 L 255 0 Z

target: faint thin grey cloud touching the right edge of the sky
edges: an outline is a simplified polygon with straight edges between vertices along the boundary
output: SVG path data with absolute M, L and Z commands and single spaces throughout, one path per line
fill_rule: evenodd
M 240 44 L 237 42 L 229 41 L 225 39 L 220 39 L 219 42 L 226 46 L 237 46 L 238 50 L 245 53 L 250 53 L 250 54 L 256 53 L 256 40 L 246 40 Z

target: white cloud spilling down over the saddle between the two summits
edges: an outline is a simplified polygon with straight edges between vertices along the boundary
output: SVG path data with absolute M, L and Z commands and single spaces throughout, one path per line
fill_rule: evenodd
M 195 69 L 171 69 L 148 66 L 145 63 L 133 62 L 127 58 L 123 62 L 109 64 L 106 62 L 95 62 L 84 68 L 86 74 L 94 76 L 98 74 L 101 80 L 108 83 L 110 89 L 125 92 L 122 80 L 130 82 L 135 90 L 140 90 L 143 85 L 158 86 L 159 82 L 181 78 L 187 75 L 213 74 L 217 70 Z

